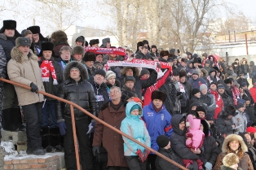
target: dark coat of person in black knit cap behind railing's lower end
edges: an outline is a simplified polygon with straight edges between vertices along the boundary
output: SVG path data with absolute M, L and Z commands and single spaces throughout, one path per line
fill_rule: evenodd
M 177 156 L 171 148 L 169 150 L 166 150 L 165 148 L 160 148 L 158 152 L 162 155 L 165 155 L 167 158 L 174 160 L 176 163 L 183 165 L 182 159 L 180 159 L 179 156 Z M 170 169 L 180 170 L 181 169 L 176 167 L 173 163 L 169 163 L 165 159 L 162 159 L 159 156 L 157 156 L 155 164 L 156 164 L 157 170 L 170 170 Z

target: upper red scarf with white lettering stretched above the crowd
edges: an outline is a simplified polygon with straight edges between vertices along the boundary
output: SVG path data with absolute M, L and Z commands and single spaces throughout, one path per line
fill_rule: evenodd
M 100 48 L 100 47 L 85 47 L 86 52 L 93 52 L 95 54 L 117 54 L 126 55 L 126 49 L 122 48 Z

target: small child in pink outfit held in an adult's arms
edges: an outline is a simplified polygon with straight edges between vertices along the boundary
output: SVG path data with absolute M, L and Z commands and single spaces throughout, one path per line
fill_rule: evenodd
M 188 115 L 186 125 L 189 126 L 188 133 L 186 133 L 186 146 L 194 150 L 200 149 L 203 145 L 205 133 L 200 130 L 201 120 L 194 119 L 192 115 Z M 191 139 L 188 139 L 191 137 Z

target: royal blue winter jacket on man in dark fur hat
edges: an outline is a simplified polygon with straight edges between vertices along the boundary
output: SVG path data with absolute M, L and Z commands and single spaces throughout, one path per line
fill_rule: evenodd
M 148 106 L 143 107 L 143 120 L 147 125 L 148 133 L 151 138 L 151 148 L 158 150 L 157 137 L 159 135 L 170 137 L 173 133 L 170 124 L 170 113 L 166 111 L 165 105 L 163 105 L 161 111 L 157 113 L 152 106 L 152 102 L 150 102 Z

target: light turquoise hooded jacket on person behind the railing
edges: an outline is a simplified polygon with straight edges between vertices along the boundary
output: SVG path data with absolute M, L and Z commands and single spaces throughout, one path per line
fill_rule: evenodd
M 139 116 L 130 115 L 131 107 L 139 106 Z M 143 122 L 139 118 L 143 116 L 142 108 L 137 102 L 128 102 L 126 105 L 126 118 L 121 121 L 121 132 L 126 133 L 130 137 L 135 138 L 135 140 L 142 142 L 146 146 L 150 147 L 150 137 L 148 135 L 148 130 Z M 143 146 L 131 141 L 127 137 L 122 137 L 124 140 L 124 152 L 126 156 L 135 156 L 137 150 L 142 152 L 145 150 Z

